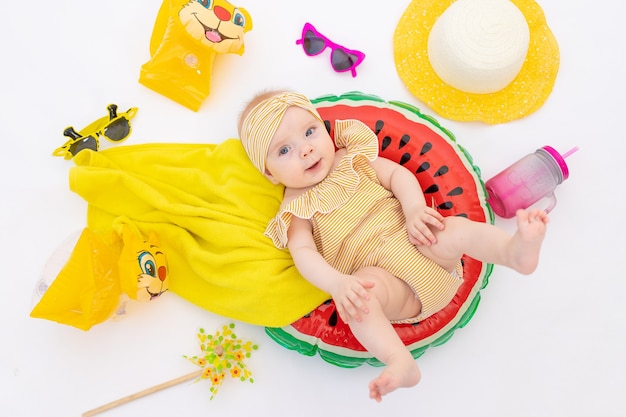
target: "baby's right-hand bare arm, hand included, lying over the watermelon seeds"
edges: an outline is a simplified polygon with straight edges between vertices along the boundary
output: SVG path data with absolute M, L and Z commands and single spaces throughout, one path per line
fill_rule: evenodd
M 390 190 L 400 201 L 411 243 L 414 245 L 436 243 L 437 239 L 429 225 L 443 230 L 443 216 L 426 203 L 415 175 L 402 165 L 386 158 L 376 158 L 371 165 L 382 186 Z

